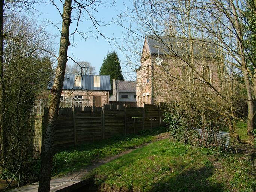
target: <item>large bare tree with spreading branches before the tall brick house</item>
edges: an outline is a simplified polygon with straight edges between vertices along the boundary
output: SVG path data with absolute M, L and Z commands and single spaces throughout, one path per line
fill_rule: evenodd
M 148 63 L 152 68 L 155 93 L 165 97 L 166 101 L 168 98 L 177 100 L 178 97 L 179 100 L 185 99 L 186 103 L 193 102 L 194 106 L 189 110 L 201 108 L 192 111 L 193 114 L 203 110 L 218 114 L 229 125 L 231 136 L 239 142 L 254 145 L 256 65 L 253 55 L 245 46 L 244 27 L 252 26 L 243 13 L 245 6 L 255 14 L 255 7 L 250 5 L 247 1 L 227 0 L 135 1 L 135 9 L 128 10 L 128 15 L 132 17 L 130 20 L 142 25 L 140 31 L 131 29 L 133 35 L 130 37 L 141 32 L 153 34 L 157 42 L 155 48 L 161 45 L 160 49 L 163 49 L 160 50 L 163 53 L 161 74 L 160 67 L 155 65 L 154 60 Z M 175 38 L 176 41 L 173 41 Z M 134 39 L 131 40 L 134 42 Z M 149 56 L 142 55 L 141 62 Z M 156 54 L 155 57 L 157 56 Z M 212 63 L 213 68 L 209 65 L 211 69 L 216 69 L 217 79 L 205 75 L 210 69 L 206 68 L 207 62 Z M 243 87 L 246 97 L 238 94 Z M 163 94 L 161 90 L 165 90 L 167 94 Z M 237 101 L 244 100 L 247 101 L 248 114 L 242 114 L 239 111 L 241 106 L 235 105 Z M 235 121 L 242 120 L 237 116 L 247 118 L 247 141 L 242 141 L 235 133 Z

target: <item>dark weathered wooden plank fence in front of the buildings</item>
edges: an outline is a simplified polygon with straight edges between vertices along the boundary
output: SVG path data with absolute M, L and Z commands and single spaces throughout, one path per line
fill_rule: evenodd
M 56 147 L 76 145 L 165 126 L 162 109 L 157 105 L 125 107 L 114 104 L 103 107 L 60 108 L 54 144 Z M 47 108 L 44 114 L 46 120 Z

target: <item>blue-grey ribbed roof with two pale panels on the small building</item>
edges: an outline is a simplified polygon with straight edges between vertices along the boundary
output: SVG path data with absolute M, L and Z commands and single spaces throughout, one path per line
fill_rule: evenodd
M 55 75 L 48 83 L 48 89 L 51 89 L 54 83 Z M 110 91 L 109 75 L 65 75 L 62 86 L 63 90 L 100 90 Z

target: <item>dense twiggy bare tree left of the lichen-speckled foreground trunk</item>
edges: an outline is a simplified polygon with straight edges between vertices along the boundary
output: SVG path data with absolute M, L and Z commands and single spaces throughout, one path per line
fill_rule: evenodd
M 5 18 L 5 162 L 24 160 L 29 156 L 33 102 L 47 86 L 51 73 L 51 56 L 41 49 L 51 50 L 45 39 L 45 28 L 37 26 L 28 15 L 15 14 Z M 40 49 L 35 51 L 35 49 Z M 33 53 L 31 53 L 33 51 Z M 14 147 L 15 146 L 15 147 Z

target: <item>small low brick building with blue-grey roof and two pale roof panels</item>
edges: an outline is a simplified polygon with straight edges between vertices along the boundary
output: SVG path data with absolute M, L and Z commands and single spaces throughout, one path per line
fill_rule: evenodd
M 49 90 L 53 80 L 48 84 Z M 101 107 L 108 104 L 110 90 L 109 75 L 65 75 L 60 107 Z

